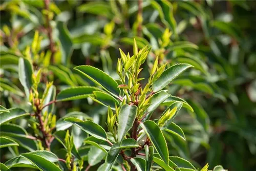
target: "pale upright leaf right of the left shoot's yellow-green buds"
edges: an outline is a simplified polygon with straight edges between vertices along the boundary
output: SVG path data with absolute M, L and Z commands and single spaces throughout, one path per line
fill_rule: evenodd
M 52 85 L 49 88 L 48 94 L 46 95 L 46 98 L 43 102 L 43 106 L 48 104 L 49 102 L 55 100 L 55 96 L 56 96 L 56 87 L 54 85 Z M 42 113 L 44 114 L 46 111 L 47 111 L 47 113 L 52 113 L 53 108 L 54 108 L 54 103 L 52 103 L 52 104 L 46 106 L 44 109 L 42 109 Z

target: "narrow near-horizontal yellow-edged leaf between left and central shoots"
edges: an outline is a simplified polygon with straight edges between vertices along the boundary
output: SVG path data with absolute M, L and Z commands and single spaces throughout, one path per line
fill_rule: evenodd
M 90 86 L 79 86 L 71 87 L 65 90 L 62 90 L 57 95 L 57 101 L 68 101 L 68 100 L 77 100 L 82 98 L 87 98 L 89 95 L 92 95 L 94 91 L 99 90 L 95 87 Z

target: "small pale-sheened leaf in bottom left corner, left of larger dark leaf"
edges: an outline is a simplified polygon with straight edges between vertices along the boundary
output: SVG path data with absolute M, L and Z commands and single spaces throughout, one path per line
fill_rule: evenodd
M 31 167 L 31 168 L 36 168 L 35 165 L 26 159 L 25 157 L 18 156 L 11 158 L 5 163 L 9 168 L 12 167 Z

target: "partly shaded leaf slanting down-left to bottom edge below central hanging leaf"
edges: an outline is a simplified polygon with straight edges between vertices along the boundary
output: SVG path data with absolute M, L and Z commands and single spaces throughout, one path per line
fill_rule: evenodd
M 109 171 L 112 168 L 112 165 L 116 161 L 116 158 L 118 157 L 119 153 L 121 152 L 121 148 L 118 148 L 119 144 L 115 143 L 111 148 L 106 156 L 106 160 L 104 165 L 101 167 L 100 171 Z

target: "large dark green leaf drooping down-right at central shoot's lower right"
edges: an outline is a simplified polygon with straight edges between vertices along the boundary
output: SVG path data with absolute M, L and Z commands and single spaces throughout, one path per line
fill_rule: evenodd
M 150 138 L 151 142 L 156 148 L 157 153 L 160 155 L 163 161 L 168 164 L 168 148 L 159 126 L 151 120 L 140 123 L 140 125 L 142 129 L 146 132 L 147 136 Z

